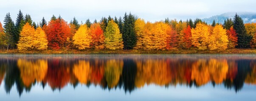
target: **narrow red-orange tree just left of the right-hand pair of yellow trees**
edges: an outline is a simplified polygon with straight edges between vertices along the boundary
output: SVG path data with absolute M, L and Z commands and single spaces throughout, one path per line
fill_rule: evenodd
M 190 25 L 188 25 L 188 27 L 185 27 L 183 29 L 183 33 L 184 33 L 184 46 L 186 48 L 190 48 L 192 46 L 192 43 L 191 43 L 191 27 L 190 27 Z

